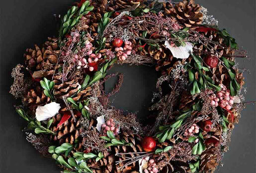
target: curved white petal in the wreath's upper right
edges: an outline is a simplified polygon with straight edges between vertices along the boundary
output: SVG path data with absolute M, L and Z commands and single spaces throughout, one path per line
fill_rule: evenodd
M 193 45 L 191 42 L 186 42 L 186 46 L 175 47 L 170 45 L 169 41 L 165 41 L 164 45 L 170 49 L 172 55 L 178 59 L 186 59 L 189 57 L 190 52 L 193 52 Z

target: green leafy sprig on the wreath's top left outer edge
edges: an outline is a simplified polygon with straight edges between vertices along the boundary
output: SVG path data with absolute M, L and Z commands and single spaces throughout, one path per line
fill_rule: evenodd
M 81 8 L 77 6 L 71 7 L 67 14 L 62 18 L 59 36 L 62 38 L 67 34 L 72 27 L 74 27 L 83 15 L 88 14 L 93 10 L 93 6 L 89 6 L 90 1 L 85 1 Z

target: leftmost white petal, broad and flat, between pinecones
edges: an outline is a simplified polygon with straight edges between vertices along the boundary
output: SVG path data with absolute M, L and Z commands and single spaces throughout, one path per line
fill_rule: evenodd
M 59 110 L 60 104 L 56 102 L 51 102 L 44 106 L 38 106 L 36 108 L 36 119 L 38 120 L 38 122 L 49 119 L 58 114 Z

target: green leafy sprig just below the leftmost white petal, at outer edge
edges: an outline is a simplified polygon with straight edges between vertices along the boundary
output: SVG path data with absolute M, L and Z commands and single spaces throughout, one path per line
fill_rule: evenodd
M 49 128 L 53 122 L 53 119 L 50 119 L 47 122 L 47 127 L 42 126 L 41 122 L 38 120 L 30 118 L 23 109 L 17 109 L 17 113 L 28 122 L 28 128 L 33 129 L 36 134 L 45 133 L 45 134 L 53 134 L 56 135 L 55 132 L 52 132 Z

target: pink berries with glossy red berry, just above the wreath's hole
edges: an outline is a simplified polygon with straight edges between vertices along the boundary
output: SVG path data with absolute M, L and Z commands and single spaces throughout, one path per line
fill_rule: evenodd
M 124 47 L 123 41 L 121 39 L 114 39 L 113 41 L 113 46 L 116 47 L 116 56 L 118 57 L 119 60 L 125 60 L 128 55 L 131 55 L 132 53 L 132 42 L 131 41 L 125 41 L 124 42 Z

